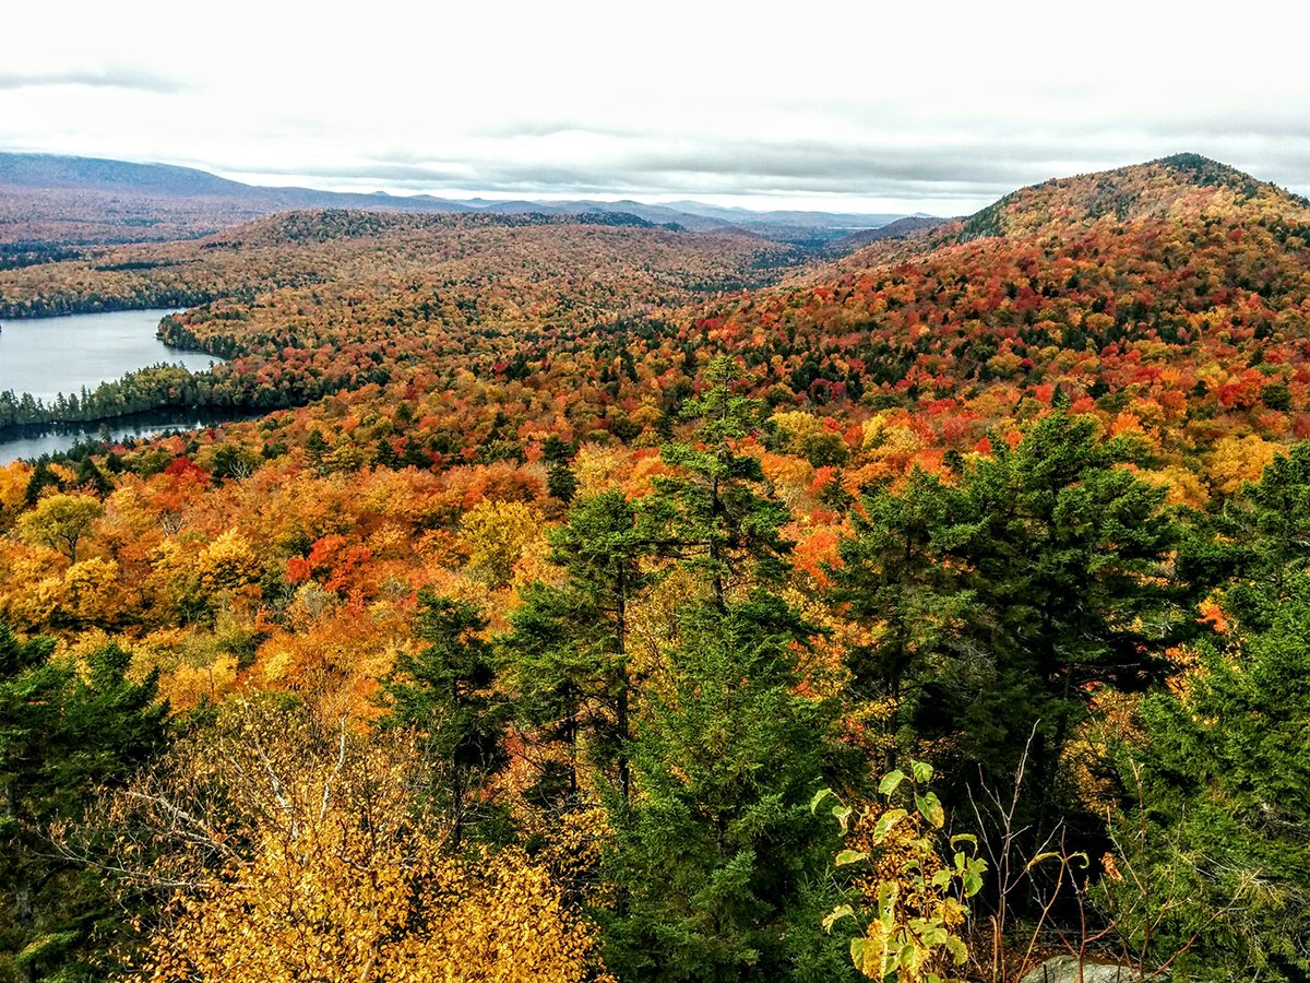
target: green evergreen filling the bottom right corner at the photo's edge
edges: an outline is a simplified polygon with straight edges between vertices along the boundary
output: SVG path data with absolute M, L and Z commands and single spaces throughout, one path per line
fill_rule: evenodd
M 1102 891 L 1144 958 L 1182 952 L 1187 979 L 1310 978 L 1310 575 L 1281 588 L 1267 626 L 1203 645 L 1117 750 L 1131 798 Z

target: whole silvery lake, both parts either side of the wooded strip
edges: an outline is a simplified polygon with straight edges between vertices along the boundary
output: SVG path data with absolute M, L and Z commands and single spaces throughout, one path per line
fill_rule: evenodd
M 5 320 L 0 330 L 0 392 L 30 392 L 50 402 L 60 392 L 80 393 L 127 372 L 161 362 L 203 372 L 221 359 L 169 347 L 155 337 L 170 309 L 114 311 L 101 315 Z M 164 410 L 106 421 L 110 434 L 152 436 L 164 430 L 214 426 L 221 419 L 198 410 Z M 0 465 L 18 457 L 39 457 L 101 434 L 101 423 L 30 427 L 22 435 L 0 439 Z

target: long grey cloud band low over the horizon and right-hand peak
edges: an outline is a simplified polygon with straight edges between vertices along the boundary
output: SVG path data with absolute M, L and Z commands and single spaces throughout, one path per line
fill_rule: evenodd
M 293 176 L 309 185 L 358 190 L 386 186 L 434 194 L 521 197 L 861 197 L 937 202 L 939 211 L 967 212 L 1052 177 L 1195 151 L 1301 190 L 1310 185 L 1310 126 L 1292 125 L 1282 114 L 1271 115 L 1277 118 L 1233 117 L 1212 121 L 1210 126 L 1179 119 L 1142 126 L 1140 131 L 1086 119 L 1068 126 L 1047 121 L 1044 128 L 1005 121 L 973 131 L 955 130 L 948 139 L 937 135 L 917 145 L 872 132 L 850 140 L 629 132 L 614 139 L 603 128 L 554 121 L 542 125 L 541 132 L 586 132 L 600 139 L 582 145 L 545 138 L 534 143 L 523 139 L 520 127 L 510 126 L 503 132 L 515 134 L 512 139 L 479 135 L 444 160 L 418 148 L 386 148 L 375 149 L 360 163 L 252 168 L 248 173 Z

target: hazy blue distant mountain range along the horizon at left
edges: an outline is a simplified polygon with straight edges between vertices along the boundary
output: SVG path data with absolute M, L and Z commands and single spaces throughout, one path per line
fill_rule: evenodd
M 668 204 L 592 199 L 451 201 L 422 194 L 360 194 L 246 185 L 170 164 L 0 153 L 0 245 L 92 245 L 186 239 L 290 208 L 498 215 L 622 212 L 672 229 L 735 231 L 811 248 L 904 218 L 895 214 L 752 211 L 694 201 Z

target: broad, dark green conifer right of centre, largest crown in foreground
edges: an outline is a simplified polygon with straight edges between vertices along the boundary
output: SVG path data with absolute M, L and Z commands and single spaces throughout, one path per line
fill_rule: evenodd
M 939 537 L 972 595 L 948 716 L 989 780 L 1013 775 L 1031 737 L 1039 824 L 1053 820 L 1060 754 L 1095 687 L 1158 680 L 1166 649 L 1195 630 L 1165 490 L 1116 467 L 1128 451 L 1090 417 L 1052 413 L 965 467 Z

